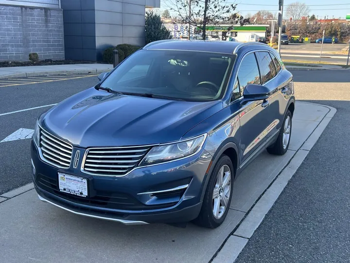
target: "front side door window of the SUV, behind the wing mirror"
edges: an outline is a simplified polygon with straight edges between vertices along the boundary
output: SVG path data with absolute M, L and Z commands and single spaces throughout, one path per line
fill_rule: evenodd
M 238 81 L 241 88 L 241 94 L 248 84 L 261 84 L 258 64 L 254 53 L 243 58 L 239 71 Z

